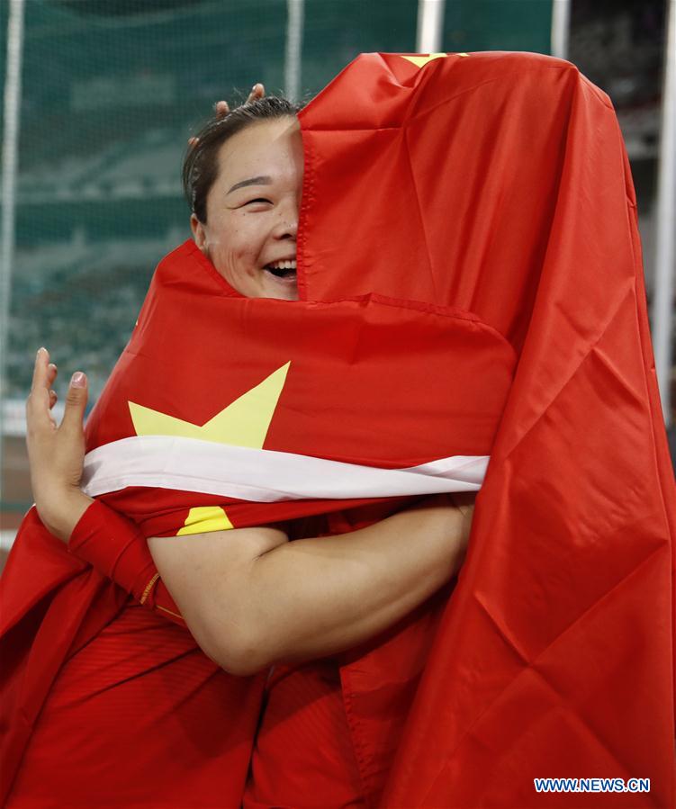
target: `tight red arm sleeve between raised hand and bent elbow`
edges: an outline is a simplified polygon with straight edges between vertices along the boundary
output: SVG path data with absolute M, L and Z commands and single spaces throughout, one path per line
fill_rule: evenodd
M 144 607 L 185 626 L 174 599 L 159 578 L 146 537 L 130 519 L 95 500 L 70 535 L 68 550 L 112 579 Z

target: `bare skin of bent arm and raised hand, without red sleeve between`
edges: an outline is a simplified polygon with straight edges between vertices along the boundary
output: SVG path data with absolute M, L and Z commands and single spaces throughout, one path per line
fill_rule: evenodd
M 41 349 L 26 407 L 27 443 L 38 512 L 68 541 L 92 503 L 78 488 L 86 379 L 71 382 L 57 427 L 50 418 L 55 377 Z M 463 558 L 471 506 L 463 514 L 442 502 L 430 499 L 347 535 L 289 543 L 275 528 L 239 528 L 153 538 L 150 548 L 203 651 L 231 673 L 252 674 L 275 661 L 361 643 L 450 579 Z

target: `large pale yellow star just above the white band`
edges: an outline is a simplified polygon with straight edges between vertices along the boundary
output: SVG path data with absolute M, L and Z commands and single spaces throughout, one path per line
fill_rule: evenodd
M 202 426 L 130 401 L 129 409 L 136 435 L 179 436 L 262 449 L 290 365 L 289 362 L 277 368 L 263 382 L 242 394 Z

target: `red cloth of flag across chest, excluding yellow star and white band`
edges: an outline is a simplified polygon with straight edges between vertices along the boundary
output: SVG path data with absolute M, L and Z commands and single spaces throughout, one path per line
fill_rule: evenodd
M 176 328 L 186 311 L 190 328 Z M 504 337 L 452 306 L 380 294 L 320 303 L 244 298 L 188 241 L 158 266 L 87 421 L 87 448 L 136 436 L 130 402 L 202 426 L 290 363 L 266 450 L 387 468 L 489 454 L 515 359 Z M 158 469 L 154 481 L 163 478 Z M 221 506 L 244 527 L 365 502 L 260 503 L 158 485 L 115 479 L 102 499 L 146 536 L 176 535 L 189 508 Z M 284 481 L 279 487 L 284 493 Z

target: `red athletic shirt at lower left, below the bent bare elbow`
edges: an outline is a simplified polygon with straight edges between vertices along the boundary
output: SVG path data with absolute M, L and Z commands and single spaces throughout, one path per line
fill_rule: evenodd
M 238 806 L 264 682 L 130 601 L 59 670 L 7 806 Z

